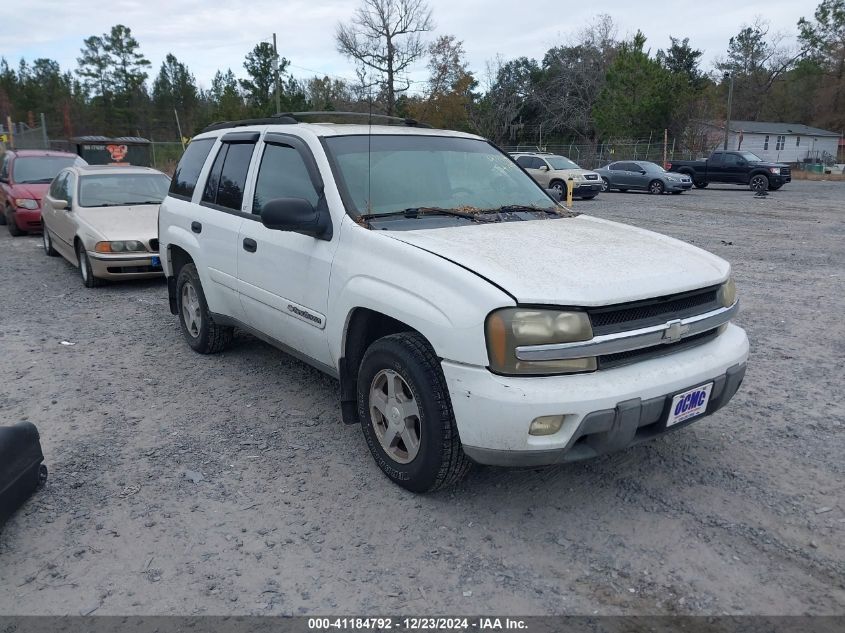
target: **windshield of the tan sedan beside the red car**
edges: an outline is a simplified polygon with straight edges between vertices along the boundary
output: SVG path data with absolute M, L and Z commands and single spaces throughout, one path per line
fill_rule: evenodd
M 79 179 L 79 206 L 119 207 L 160 204 L 170 178 L 164 174 L 98 174 Z

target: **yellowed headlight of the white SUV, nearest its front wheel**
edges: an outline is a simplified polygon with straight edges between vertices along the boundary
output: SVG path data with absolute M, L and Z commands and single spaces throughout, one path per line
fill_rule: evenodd
M 506 375 L 571 374 L 594 371 L 596 359 L 522 361 L 516 348 L 523 345 L 554 345 L 593 338 L 585 312 L 542 308 L 504 308 L 491 312 L 485 323 L 487 355 L 491 371 Z

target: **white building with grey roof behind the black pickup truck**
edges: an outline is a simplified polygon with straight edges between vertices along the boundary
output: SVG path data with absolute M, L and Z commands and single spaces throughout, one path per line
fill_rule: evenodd
M 714 124 L 711 140 L 723 139 L 725 124 Z M 728 149 L 754 152 L 779 163 L 833 163 L 841 135 L 800 123 L 731 121 Z M 717 149 L 722 149 L 718 140 Z

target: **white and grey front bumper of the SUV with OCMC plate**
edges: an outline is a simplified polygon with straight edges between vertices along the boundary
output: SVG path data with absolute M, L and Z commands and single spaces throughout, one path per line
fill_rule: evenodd
M 713 413 L 736 393 L 747 356 L 745 332 L 729 325 L 703 345 L 587 374 L 520 378 L 449 361 L 442 365 L 466 454 L 483 464 L 538 466 L 651 439 L 667 431 L 667 402 L 674 394 L 711 381 L 705 415 Z M 531 421 L 546 415 L 564 415 L 561 429 L 529 435 Z

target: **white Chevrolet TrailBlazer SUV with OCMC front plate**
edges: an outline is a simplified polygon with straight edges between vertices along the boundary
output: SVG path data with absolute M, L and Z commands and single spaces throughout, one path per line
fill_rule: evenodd
M 566 211 L 477 136 L 303 118 L 191 141 L 159 218 L 170 308 L 198 352 L 238 327 L 337 377 L 397 484 L 594 457 L 736 393 L 722 259 Z

